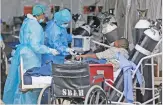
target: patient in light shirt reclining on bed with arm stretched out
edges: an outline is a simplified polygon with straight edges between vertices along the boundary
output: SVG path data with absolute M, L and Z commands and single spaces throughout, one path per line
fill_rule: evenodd
M 76 59 L 79 60 L 80 58 L 95 58 L 95 59 L 106 59 L 106 64 L 112 64 L 114 71 L 119 69 L 119 60 L 116 57 L 116 54 L 119 52 L 121 53 L 125 58 L 128 59 L 128 48 L 129 48 L 129 42 L 125 38 L 121 38 L 119 40 L 116 40 L 114 42 L 114 46 L 110 47 L 109 49 L 99 52 L 96 54 L 86 54 L 86 55 L 80 55 L 77 56 Z

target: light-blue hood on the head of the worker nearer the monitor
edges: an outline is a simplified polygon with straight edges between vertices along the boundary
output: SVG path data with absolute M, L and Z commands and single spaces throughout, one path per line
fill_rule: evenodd
M 72 19 L 71 13 L 67 9 L 63 9 L 54 14 L 54 20 L 56 21 L 57 25 L 59 25 L 59 26 L 64 23 L 70 22 L 71 19 Z

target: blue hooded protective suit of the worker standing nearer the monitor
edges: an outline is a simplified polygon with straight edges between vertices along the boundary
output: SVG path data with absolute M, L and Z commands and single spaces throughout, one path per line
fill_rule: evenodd
M 59 55 L 53 56 L 52 54 L 44 54 L 42 62 L 47 63 L 53 61 L 56 64 L 63 64 L 65 56 L 69 55 L 66 52 L 68 43 L 71 43 L 72 36 L 67 33 L 67 29 L 61 25 L 71 21 L 71 14 L 67 9 L 61 10 L 54 14 L 54 18 L 47 23 L 45 29 L 45 45 L 54 48 L 59 52 Z

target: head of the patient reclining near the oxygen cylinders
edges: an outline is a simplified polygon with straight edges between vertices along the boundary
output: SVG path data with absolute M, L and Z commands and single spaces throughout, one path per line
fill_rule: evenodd
M 116 40 L 114 42 L 114 46 L 115 47 L 118 47 L 118 48 L 124 48 L 124 49 L 128 50 L 128 48 L 129 48 L 129 42 L 128 42 L 127 39 L 121 38 L 121 39 Z

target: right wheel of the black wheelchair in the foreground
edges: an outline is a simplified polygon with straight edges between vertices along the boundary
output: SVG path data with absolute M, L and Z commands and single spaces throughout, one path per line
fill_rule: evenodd
M 100 86 L 94 85 L 89 89 L 84 101 L 84 105 L 88 104 L 108 104 L 107 96 Z

